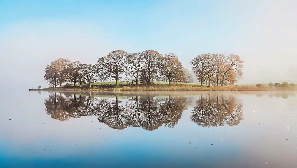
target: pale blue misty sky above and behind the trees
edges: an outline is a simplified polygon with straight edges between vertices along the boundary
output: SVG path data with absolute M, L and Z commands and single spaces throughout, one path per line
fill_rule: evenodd
M 47 87 L 57 58 L 96 64 L 113 50 L 175 53 L 190 69 L 201 53 L 237 54 L 238 83 L 297 81 L 294 0 L 0 0 L 0 79 Z M 20 85 L 21 83 L 21 85 Z

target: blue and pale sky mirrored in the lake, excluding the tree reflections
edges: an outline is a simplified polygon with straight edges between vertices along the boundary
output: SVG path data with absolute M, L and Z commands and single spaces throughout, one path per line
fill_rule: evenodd
M 296 96 L 236 95 L 244 120 L 211 128 L 189 119 L 198 99 L 193 97 L 174 128 L 154 131 L 110 129 L 95 116 L 60 122 L 46 115 L 46 96 L 26 92 L 1 103 L 0 167 L 259 167 L 267 161 L 296 166 L 297 115 L 287 104 Z

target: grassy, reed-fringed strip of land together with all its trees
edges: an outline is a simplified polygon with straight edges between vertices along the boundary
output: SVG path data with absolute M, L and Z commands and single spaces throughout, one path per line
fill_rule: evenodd
M 115 50 L 100 57 L 96 64 L 58 58 L 45 68 L 49 88 L 30 91 L 266 91 L 296 90 L 288 82 L 235 85 L 243 76 L 243 61 L 235 54 L 205 53 L 190 60 L 199 83 L 193 83 L 189 70 L 174 53 L 155 50 L 127 53 Z M 115 80 L 110 82 L 110 80 Z M 120 81 L 121 80 L 121 81 Z M 98 82 L 102 81 L 102 82 Z

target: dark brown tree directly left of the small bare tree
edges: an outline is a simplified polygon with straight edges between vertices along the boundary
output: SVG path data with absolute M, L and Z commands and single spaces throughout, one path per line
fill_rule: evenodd
M 79 82 L 79 77 L 81 76 L 81 68 L 82 64 L 79 61 L 75 61 L 69 64 L 68 69 L 66 70 L 67 76 L 70 82 L 74 83 L 76 86 L 76 82 Z

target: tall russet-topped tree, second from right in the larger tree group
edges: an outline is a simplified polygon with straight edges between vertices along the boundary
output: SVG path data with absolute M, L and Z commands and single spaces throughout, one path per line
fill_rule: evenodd
M 159 58 L 162 56 L 155 50 L 146 50 L 142 53 L 143 69 L 141 70 L 140 80 L 142 83 L 149 85 L 154 83 L 154 78 L 157 76 Z

